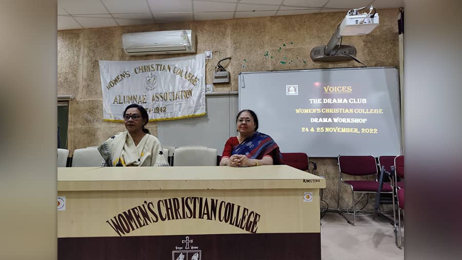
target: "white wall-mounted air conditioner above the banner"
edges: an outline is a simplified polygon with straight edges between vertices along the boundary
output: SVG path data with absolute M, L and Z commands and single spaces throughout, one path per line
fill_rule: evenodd
M 122 34 L 128 55 L 196 52 L 196 34 L 191 30 L 151 31 Z

